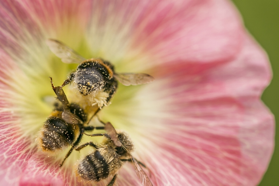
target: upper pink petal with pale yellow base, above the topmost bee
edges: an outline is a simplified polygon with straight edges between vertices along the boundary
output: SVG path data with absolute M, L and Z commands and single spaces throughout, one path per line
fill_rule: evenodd
M 228 1 L 94 1 L 93 7 L 87 42 L 121 71 L 174 61 L 209 68 L 231 60 L 242 45 L 242 24 Z

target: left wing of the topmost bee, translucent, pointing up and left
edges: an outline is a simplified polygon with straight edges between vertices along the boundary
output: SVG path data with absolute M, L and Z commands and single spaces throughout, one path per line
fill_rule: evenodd
M 82 56 L 78 55 L 76 51 L 58 40 L 48 39 L 46 42 L 51 52 L 59 57 L 64 63 L 81 63 L 86 60 Z

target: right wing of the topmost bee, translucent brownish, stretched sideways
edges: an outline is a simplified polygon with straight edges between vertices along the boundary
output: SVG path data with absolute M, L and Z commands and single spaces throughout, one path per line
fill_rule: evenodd
M 154 77 L 144 73 L 120 73 L 114 74 L 114 77 L 125 86 L 140 85 L 154 81 Z

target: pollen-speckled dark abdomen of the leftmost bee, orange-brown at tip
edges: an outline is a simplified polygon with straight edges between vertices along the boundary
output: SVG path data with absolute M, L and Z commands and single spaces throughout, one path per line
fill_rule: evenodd
M 41 147 L 48 151 L 66 148 L 74 142 L 78 131 L 78 126 L 68 125 L 61 118 L 51 116 L 41 130 Z

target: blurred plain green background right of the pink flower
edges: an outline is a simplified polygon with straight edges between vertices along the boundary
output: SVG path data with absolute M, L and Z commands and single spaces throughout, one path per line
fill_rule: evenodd
M 279 121 L 279 0 L 232 0 L 248 31 L 266 50 L 273 79 L 262 100 Z M 277 122 L 278 123 L 278 122 Z M 275 149 L 260 186 L 279 186 L 279 127 L 276 125 Z

